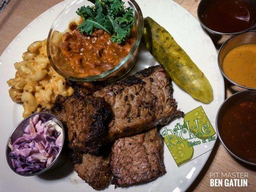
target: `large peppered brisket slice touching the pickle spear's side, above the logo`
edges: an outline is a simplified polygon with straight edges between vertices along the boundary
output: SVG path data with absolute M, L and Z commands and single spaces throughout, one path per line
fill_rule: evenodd
M 152 129 L 182 115 L 172 92 L 171 79 L 160 65 L 94 92 L 94 96 L 106 100 L 113 113 L 108 139 L 114 141 Z

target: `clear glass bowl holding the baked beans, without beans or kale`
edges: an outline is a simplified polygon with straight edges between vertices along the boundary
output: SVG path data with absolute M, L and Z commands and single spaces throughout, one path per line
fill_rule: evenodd
M 69 64 L 66 63 L 66 61 L 61 56 L 61 49 L 58 45 L 60 41 L 59 39 L 61 33 L 67 31 L 70 22 L 78 21 L 80 19 L 80 17 L 75 13 L 76 10 L 84 5 L 93 5 L 88 0 L 74 0 L 58 15 L 49 31 L 47 39 L 47 54 L 51 66 L 56 72 L 58 72 L 61 76 L 73 81 L 90 82 L 114 81 L 118 78 L 121 78 L 123 75 L 131 70 L 138 56 L 138 48 L 143 33 L 143 16 L 135 0 L 123 1 L 125 2 L 124 5 L 126 7 L 131 7 L 134 9 L 134 27 L 136 31 L 136 39 L 129 54 L 125 58 L 123 58 L 120 63 L 114 68 L 99 75 L 83 76 L 81 74 L 76 74 L 75 72 L 73 72 L 73 69 L 69 66 Z

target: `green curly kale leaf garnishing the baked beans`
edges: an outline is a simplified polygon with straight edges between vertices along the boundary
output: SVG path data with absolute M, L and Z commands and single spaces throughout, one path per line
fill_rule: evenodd
M 111 34 L 111 41 L 124 42 L 131 34 L 134 25 L 132 8 L 125 8 L 122 0 L 90 0 L 94 6 L 83 6 L 76 13 L 83 18 L 78 25 L 82 34 L 92 35 L 94 28 Z

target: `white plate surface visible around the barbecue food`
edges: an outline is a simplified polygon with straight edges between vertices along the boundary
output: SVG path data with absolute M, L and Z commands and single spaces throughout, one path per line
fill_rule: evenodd
M 52 175 L 22 177 L 9 168 L 5 159 L 5 146 L 9 134 L 15 125 L 22 120 L 23 108 L 12 102 L 8 94 L 6 81 L 14 77 L 13 63 L 22 60 L 22 53 L 28 45 L 36 40 L 47 37 L 51 24 L 61 10 L 72 0 L 65 0 L 41 14 L 24 28 L 6 48 L 0 57 L 0 191 L 1 192 L 88 192 L 93 189 L 81 180 L 71 168 L 66 165 L 62 170 L 54 171 Z M 202 30 L 198 21 L 183 7 L 171 0 L 137 0 L 143 16 L 150 16 L 164 26 L 187 52 L 197 66 L 205 73 L 214 90 L 214 101 L 204 105 L 195 101 L 176 84 L 174 98 L 178 108 L 188 112 L 200 105 L 205 109 L 209 120 L 215 128 L 217 110 L 224 100 L 224 83 L 217 64 L 217 52 L 209 36 Z M 13 29 L 15 30 L 15 29 Z M 157 64 L 146 51 L 140 51 L 133 72 Z M 164 161 L 167 174 L 152 182 L 128 188 L 117 188 L 110 185 L 106 192 L 184 192 L 195 180 L 204 167 L 210 152 L 190 161 L 178 168 L 168 148 L 165 146 Z

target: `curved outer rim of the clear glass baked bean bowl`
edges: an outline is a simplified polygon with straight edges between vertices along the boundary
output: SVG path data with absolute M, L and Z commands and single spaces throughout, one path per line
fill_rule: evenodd
M 65 72 L 62 72 L 61 70 L 59 70 L 59 68 L 55 65 L 54 61 L 52 60 L 50 50 L 49 50 L 49 42 L 50 42 L 50 38 L 51 38 L 51 35 L 52 35 L 52 32 L 53 32 L 53 28 L 56 26 L 58 21 L 61 19 L 62 14 L 64 12 L 66 12 L 68 9 L 70 9 L 70 7 L 72 7 L 73 4 L 75 4 L 78 1 L 80 1 L 80 0 L 73 0 L 69 5 L 67 5 L 59 13 L 59 15 L 56 17 L 53 24 L 51 25 L 51 28 L 50 28 L 49 34 L 48 34 L 48 38 L 47 38 L 47 56 L 48 56 L 48 59 L 50 61 L 51 66 L 53 67 L 53 69 L 57 73 L 59 73 L 61 76 L 63 76 L 64 78 L 72 80 L 72 81 L 78 81 L 78 82 L 91 82 L 91 81 L 96 81 L 98 79 L 105 78 L 108 75 L 110 75 L 112 72 L 115 72 L 115 71 L 119 70 L 122 67 L 123 64 L 125 64 L 127 61 L 129 61 L 133 57 L 133 54 L 138 49 L 140 41 L 141 41 L 141 37 L 142 37 L 142 34 L 143 34 L 143 28 L 144 28 L 144 21 L 143 21 L 143 15 L 142 15 L 141 9 L 140 9 L 139 5 L 137 4 L 137 2 L 135 0 L 128 0 L 134 6 L 134 11 L 138 13 L 138 25 L 137 25 L 137 31 L 136 31 L 136 40 L 135 40 L 134 45 L 131 48 L 130 52 L 128 53 L 128 55 L 125 58 L 123 58 L 119 62 L 119 64 L 117 64 L 115 67 L 113 67 L 112 69 L 110 69 L 106 72 L 102 72 L 99 75 L 92 75 L 92 76 L 87 76 L 87 77 L 69 76 L 69 75 L 66 75 Z M 130 2 L 128 2 L 128 3 L 130 3 Z

